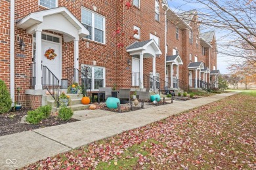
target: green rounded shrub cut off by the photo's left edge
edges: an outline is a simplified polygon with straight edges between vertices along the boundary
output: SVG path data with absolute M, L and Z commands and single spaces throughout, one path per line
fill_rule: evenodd
M 12 99 L 3 80 L 0 80 L 0 114 L 9 112 L 12 107 Z

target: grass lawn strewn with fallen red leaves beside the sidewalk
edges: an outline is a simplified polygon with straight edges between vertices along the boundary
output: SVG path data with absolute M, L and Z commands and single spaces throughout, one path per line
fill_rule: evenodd
M 255 96 L 256 92 L 232 95 L 29 167 L 254 169 Z

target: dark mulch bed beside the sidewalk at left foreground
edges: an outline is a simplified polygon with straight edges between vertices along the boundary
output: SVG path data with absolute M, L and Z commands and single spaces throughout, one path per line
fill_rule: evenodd
M 77 121 L 75 119 L 64 121 L 55 116 L 50 116 L 49 118 L 42 120 L 39 124 L 20 124 L 21 118 L 27 114 L 28 110 L 30 109 L 21 109 L 16 110 L 15 112 L 0 114 L 0 136 Z

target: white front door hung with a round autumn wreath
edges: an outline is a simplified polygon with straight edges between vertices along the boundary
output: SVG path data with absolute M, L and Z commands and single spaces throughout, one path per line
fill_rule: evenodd
M 54 53 L 57 55 L 51 60 L 45 57 L 45 52 L 49 50 L 49 48 L 53 49 Z M 58 80 L 61 80 L 62 78 L 61 62 L 62 56 L 60 43 L 42 40 L 42 65 L 47 66 L 48 69 L 58 78 Z

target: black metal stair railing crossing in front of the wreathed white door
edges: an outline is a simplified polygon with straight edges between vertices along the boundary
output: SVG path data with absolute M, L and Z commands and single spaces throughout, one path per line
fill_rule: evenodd
M 59 84 L 60 80 L 51 72 L 51 70 L 42 65 L 43 77 L 42 77 L 42 85 L 43 89 L 48 90 L 48 92 L 53 96 L 53 99 L 56 101 L 57 107 L 60 107 L 59 101 Z

